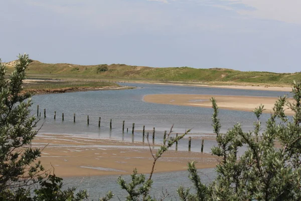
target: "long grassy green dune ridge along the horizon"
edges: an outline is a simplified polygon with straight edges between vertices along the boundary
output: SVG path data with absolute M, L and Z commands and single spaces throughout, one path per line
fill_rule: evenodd
M 8 71 L 14 66 L 8 65 Z M 47 64 L 32 61 L 29 64 L 29 76 L 77 77 L 77 78 L 122 78 L 159 81 L 195 81 L 195 82 L 246 82 L 290 84 L 301 81 L 301 73 L 273 73 L 256 71 L 238 71 L 224 68 L 196 69 L 191 67 L 154 68 L 130 66 L 125 64 L 75 65 L 67 63 Z

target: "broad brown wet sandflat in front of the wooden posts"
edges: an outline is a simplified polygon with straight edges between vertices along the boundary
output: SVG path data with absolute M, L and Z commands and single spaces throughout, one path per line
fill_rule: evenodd
M 153 153 L 159 146 L 151 144 Z M 153 164 L 147 142 L 44 134 L 35 138 L 33 147 L 45 147 L 39 160 L 46 169 L 54 169 L 61 177 L 130 174 L 134 168 L 138 173 L 149 173 Z M 168 151 L 158 160 L 155 172 L 187 170 L 189 161 L 196 161 L 197 168 L 215 167 L 217 160 L 206 153 Z

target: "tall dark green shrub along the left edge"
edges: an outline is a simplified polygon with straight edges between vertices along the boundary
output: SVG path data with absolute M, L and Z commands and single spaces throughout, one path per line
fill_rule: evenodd
M 38 133 L 34 130 L 36 118 L 30 116 L 32 94 L 21 93 L 29 63 L 28 55 L 19 55 L 15 71 L 6 79 L 0 59 L 0 200 L 84 199 L 86 191 L 62 190 L 62 179 L 49 175 L 40 161 L 35 162 L 41 151 L 31 146 Z M 36 184 L 40 189 L 33 192 Z

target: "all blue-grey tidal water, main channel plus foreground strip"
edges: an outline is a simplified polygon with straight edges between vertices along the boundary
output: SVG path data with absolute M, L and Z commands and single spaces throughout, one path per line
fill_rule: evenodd
M 163 133 L 174 125 L 175 133 L 183 133 L 192 129 L 190 136 L 206 136 L 212 133 L 211 116 L 212 109 L 161 105 L 143 102 L 146 94 L 212 94 L 212 95 L 245 95 L 245 96 L 270 96 L 277 97 L 289 95 L 283 91 L 260 91 L 242 89 L 219 89 L 194 86 L 174 86 L 157 84 L 125 83 L 128 86 L 136 86 L 130 90 L 85 91 L 60 94 L 35 95 L 32 114 L 36 115 L 36 105 L 40 106 L 42 126 L 40 133 L 70 134 L 86 138 L 116 139 L 126 141 L 142 141 L 142 126 L 152 136 L 153 127 L 156 127 L 155 143 L 163 141 Z M 43 117 L 46 109 L 47 118 Z M 54 120 L 56 111 L 56 120 Z M 64 113 L 64 121 L 62 121 Z M 76 114 L 76 123 L 73 123 L 73 114 Z M 87 115 L 90 124 L 87 125 Z M 98 128 L 98 118 L 101 117 L 101 127 Z M 261 117 L 262 125 L 268 119 L 268 114 Z M 240 123 L 245 131 L 253 129 L 255 116 L 251 112 L 220 110 L 219 118 L 222 124 L 222 132 L 227 131 L 236 123 Z M 109 121 L 112 119 L 112 130 L 109 129 Z M 122 133 L 122 121 L 125 121 L 125 133 Z M 131 134 L 132 123 L 135 123 L 134 135 Z M 126 132 L 128 128 L 128 133 Z M 206 140 L 204 152 L 209 153 L 216 142 Z M 192 150 L 200 152 L 201 139 L 192 140 Z M 172 147 L 174 149 L 175 147 Z M 188 138 L 179 142 L 179 150 L 188 150 Z M 203 182 L 212 181 L 214 169 L 199 170 Z M 124 176 L 129 179 L 129 176 Z M 113 200 L 124 200 L 126 192 L 117 184 L 118 176 L 93 176 L 65 178 L 65 187 L 77 185 L 78 189 L 88 189 L 90 200 L 97 200 L 108 190 L 113 190 Z M 192 186 L 188 179 L 187 171 L 156 173 L 152 194 L 155 197 L 162 196 L 162 191 L 169 192 L 169 199 L 177 200 L 176 189 L 180 185 Z

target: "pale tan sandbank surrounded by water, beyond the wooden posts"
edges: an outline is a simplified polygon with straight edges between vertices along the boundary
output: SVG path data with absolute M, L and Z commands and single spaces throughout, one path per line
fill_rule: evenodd
M 264 113 L 271 113 L 278 99 L 277 97 L 195 94 L 152 94 L 145 95 L 143 99 L 148 103 L 212 108 L 211 97 L 215 97 L 220 109 L 252 112 L 262 104 L 265 109 Z M 285 110 L 285 113 L 287 115 L 293 114 L 289 109 Z

